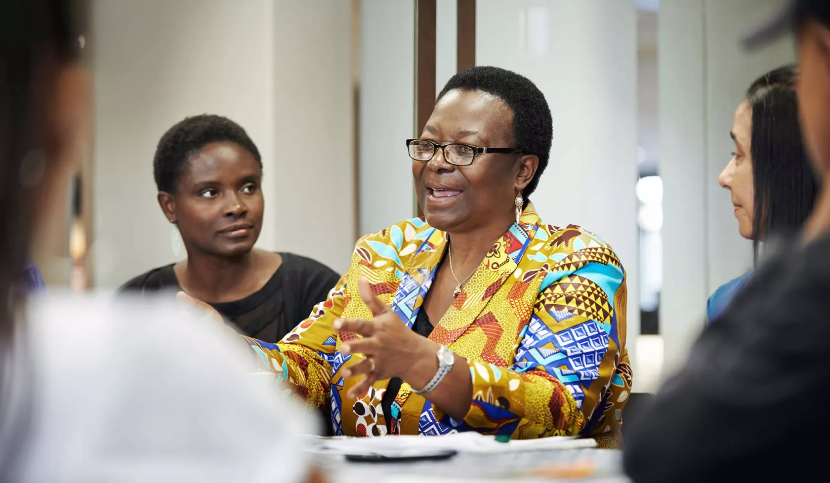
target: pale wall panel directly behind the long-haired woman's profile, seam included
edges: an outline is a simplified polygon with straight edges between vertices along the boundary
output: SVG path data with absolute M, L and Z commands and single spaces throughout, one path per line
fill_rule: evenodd
M 749 83 L 794 60 L 792 39 L 754 53 L 740 47 L 742 33 L 771 3 L 660 3 L 664 373 L 686 359 L 704 327 L 706 298 L 751 266 L 751 243 L 740 237 L 729 193 L 717 177 L 730 159 L 733 114 Z

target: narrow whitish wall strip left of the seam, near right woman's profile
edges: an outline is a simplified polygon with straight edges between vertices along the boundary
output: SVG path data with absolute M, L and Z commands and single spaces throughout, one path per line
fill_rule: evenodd
M 660 176 L 663 180 L 660 333 L 666 368 L 671 370 L 685 359 L 684 341 L 701 327 L 706 310 L 703 0 L 664 0 L 658 18 Z

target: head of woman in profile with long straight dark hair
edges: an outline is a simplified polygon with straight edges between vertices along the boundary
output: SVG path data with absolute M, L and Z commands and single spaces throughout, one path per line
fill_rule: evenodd
M 749 86 L 730 132 L 735 152 L 718 178 L 740 235 L 756 243 L 797 232 L 818 192 L 798 124 L 797 77 L 795 66 L 784 66 Z

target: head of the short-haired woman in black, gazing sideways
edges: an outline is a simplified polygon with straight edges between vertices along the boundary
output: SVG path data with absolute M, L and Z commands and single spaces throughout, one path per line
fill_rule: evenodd
M 189 256 L 236 257 L 262 227 L 262 161 L 245 129 L 218 115 L 173 125 L 153 160 L 159 206 L 176 224 Z

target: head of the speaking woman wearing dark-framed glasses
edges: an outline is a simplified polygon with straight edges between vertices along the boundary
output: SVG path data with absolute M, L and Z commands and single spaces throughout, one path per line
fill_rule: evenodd
M 464 232 L 515 217 L 517 195 L 526 204 L 548 165 L 552 126 L 544 95 L 524 76 L 491 66 L 452 76 L 421 134 L 432 144 L 409 146 L 410 156 L 422 151 L 413 157 L 413 176 L 427 222 Z M 507 152 L 473 155 L 458 144 Z

